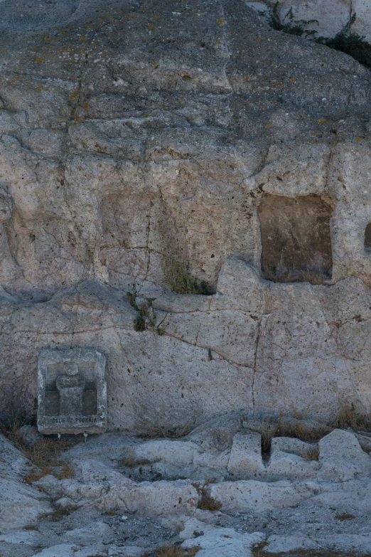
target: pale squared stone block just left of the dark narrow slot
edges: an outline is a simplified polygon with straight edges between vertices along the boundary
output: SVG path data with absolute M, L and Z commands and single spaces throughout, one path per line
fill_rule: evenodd
M 230 474 L 240 478 L 264 474 L 261 438 L 259 433 L 236 433 L 227 468 Z

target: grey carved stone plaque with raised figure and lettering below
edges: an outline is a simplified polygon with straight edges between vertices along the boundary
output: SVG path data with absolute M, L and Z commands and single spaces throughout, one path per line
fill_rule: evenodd
M 106 359 L 94 348 L 42 350 L 38 358 L 38 430 L 103 433 Z

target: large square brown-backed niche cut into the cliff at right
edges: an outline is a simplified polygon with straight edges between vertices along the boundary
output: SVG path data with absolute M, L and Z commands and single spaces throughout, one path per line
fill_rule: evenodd
M 315 195 L 288 198 L 267 194 L 258 212 L 266 280 L 323 284 L 330 279 L 333 208 L 329 203 Z

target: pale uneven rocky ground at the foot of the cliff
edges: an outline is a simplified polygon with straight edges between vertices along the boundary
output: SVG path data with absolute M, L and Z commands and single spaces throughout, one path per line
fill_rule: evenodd
M 279 427 L 232 414 L 178 439 L 62 440 L 44 467 L 1 437 L 0 555 L 370 555 L 371 435 L 291 421 L 311 442 L 266 450 Z M 17 439 L 31 457 L 58 447 L 30 426 Z

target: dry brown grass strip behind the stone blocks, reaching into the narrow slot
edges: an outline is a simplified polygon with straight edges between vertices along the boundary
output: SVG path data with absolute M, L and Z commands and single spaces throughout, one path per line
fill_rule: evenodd
M 262 421 L 260 433 L 262 434 L 262 451 L 268 452 L 271 448 L 273 437 L 295 437 L 301 441 L 316 442 L 328 435 L 333 428 L 325 424 L 308 425 L 303 422 L 289 422 L 282 418 L 274 420 L 266 418 Z

